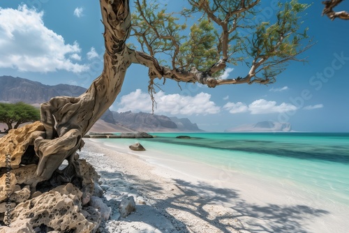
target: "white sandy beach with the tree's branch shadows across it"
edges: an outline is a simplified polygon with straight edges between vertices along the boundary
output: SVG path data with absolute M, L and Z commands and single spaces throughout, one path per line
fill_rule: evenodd
M 306 194 L 278 183 L 154 151 L 125 153 L 84 141 L 80 157 L 101 175 L 105 203 L 113 209 L 101 232 L 346 232 L 349 227 L 347 209 L 316 208 Z M 129 195 L 136 211 L 120 218 L 117 205 Z

